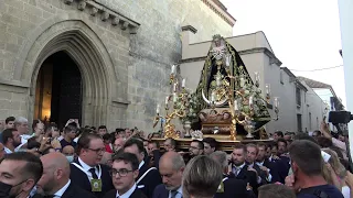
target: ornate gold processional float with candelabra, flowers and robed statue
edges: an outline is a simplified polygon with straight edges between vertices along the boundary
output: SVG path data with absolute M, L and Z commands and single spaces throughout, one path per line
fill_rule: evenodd
M 201 133 L 218 141 L 254 139 L 255 132 L 259 132 L 258 139 L 261 139 L 263 127 L 270 120 L 278 120 L 279 100 L 274 97 L 270 105 L 270 85 L 265 85 L 263 96 L 259 74 L 255 73 L 254 82 L 238 53 L 221 35 L 213 36 L 194 92 L 185 87 L 185 79 L 180 80 L 176 68 L 178 65 L 171 68 L 165 116 L 160 114 L 158 105 L 154 118 L 153 127 L 164 121 L 164 138 L 180 138 L 171 123 L 176 118 L 184 123 L 184 138 L 190 138 L 190 127 L 194 125 L 199 128 L 193 129 L 196 135 Z M 274 109 L 274 119 L 268 108 Z

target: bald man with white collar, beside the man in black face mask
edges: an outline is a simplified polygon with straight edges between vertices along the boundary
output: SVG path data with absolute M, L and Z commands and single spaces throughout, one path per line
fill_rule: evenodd
M 43 175 L 36 184 L 38 193 L 43 196 L 61 198 L 95 198 L 86 190 L 75 186 L 69 179 L 69 164 L 61 153 L 49 153 L 41 157 Z

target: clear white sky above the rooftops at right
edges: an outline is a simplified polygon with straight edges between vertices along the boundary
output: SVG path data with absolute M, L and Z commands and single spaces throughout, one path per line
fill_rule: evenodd
M 264 31 L 277 58 L 297 76 L 333 86 L 345 105 L 335 0 L 221 0 L 237 20 L 234 35 Z M 234 46 L 236 47 L 236 46 Z M 297 70 L 297 72 L 296 72 Z M 299 72 L 306 70 L 306 72 Z

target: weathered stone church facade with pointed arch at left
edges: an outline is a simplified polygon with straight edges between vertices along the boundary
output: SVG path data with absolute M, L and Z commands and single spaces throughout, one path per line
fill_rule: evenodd
M 201 42 L 231 36 L 234 23 L 218 0 L 1 0 L 0 119 L 39 117 L 41 67 L 64 52 L 81 74 L 82 124 L 151 131 L 170 66 L 181 59 L 182 28 L 194 26 L 191 42 Z

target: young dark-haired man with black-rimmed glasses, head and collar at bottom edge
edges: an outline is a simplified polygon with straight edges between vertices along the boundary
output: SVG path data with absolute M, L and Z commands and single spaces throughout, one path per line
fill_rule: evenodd
M 135 154 L 120 153 L 113 158 L 111 177 L 115 189 L 104 198 L 129 197 L 147 198 L 137 187 L 135 179 L 139 175 L 139 161 Z

